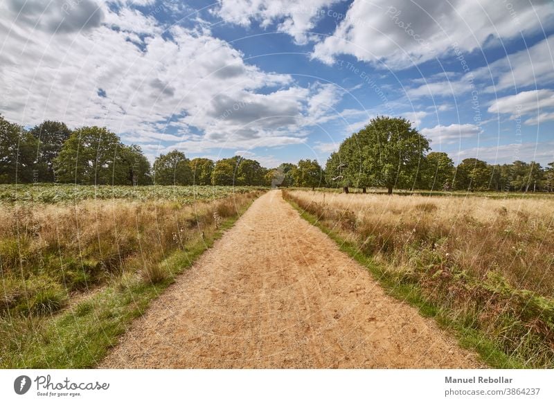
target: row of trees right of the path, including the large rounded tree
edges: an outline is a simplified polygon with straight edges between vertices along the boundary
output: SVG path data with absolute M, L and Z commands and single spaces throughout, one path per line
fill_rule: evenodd
M 475 158 L 457 166 L 445 152 L 429 152 L 429 139 L 405 118 L 377 116 L 344 140 L 325 165 L 328 186 L 422 190 L 552 192 L 554 163 L 491 165 Z

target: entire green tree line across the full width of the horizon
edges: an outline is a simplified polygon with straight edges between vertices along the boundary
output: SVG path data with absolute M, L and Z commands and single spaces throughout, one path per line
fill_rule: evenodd
M 139 145 L 123 144 L 105 127 L 71 130 L 46 120 L 26 130 L 0 115 L 0 183 L 554 191 L 554 163 L 490 165 L 470 158 L 454 166 L 448 154 L 430 150 L 429 139 L 409 120 L 377 116 L 346 138 L 325 168 L 301 159 L 267 169 L 242 156 L 188 159 L 178 150 L 150 165 Z

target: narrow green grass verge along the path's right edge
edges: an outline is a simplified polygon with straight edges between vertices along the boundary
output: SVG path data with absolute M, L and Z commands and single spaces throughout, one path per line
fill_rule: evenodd
M 341 251 L 348 253 L 360 265 L 366 267 L 388 295 L 416 307 L 422 316 L 435 319 L 441 328 L 452 332 L 457 337 L 460 346 L 478 352 L 485 364 L 492 368 L 532 368 L 526 362 L 507 355 L 497 342 L 472 328 L 471 320 L 456 317 L 453 312 L 431 303 L 417 284 L 403 282 L 375 262 L 372 257 L 362 253 L 357 244 L 344 240 L 336 231 L 325 226 L 318 217 L 307 213 L 290 199 L 287 199 L 287 202 L 300 213 L 304 220 L 321 229 L 334 240 Z

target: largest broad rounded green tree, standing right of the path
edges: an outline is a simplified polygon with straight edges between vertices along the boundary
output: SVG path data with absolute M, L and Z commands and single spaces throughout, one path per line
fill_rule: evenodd
M 348 181 L 357 186 L 359 183 L 384 186 L 389 195 L 395 187 L 414 186 L 429 150 L 429 140 L 411 127 L 409 120 L 377 116 L 352 137 L 355 141 L 343 143 Z

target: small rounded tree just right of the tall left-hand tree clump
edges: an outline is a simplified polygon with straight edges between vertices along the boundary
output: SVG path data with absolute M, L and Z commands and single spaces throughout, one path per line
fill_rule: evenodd
M 173 150 L 160 154 L 154 161 L 154 183 L 157 185 L 190 185 L 193 171 L 184 152 Z

